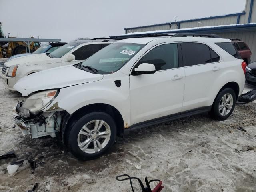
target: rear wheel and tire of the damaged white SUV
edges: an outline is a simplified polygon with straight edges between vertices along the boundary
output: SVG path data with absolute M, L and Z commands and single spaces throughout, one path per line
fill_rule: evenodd
M 216 120 L 226 120 L 232 114 L 235 105 L 236 94 L 234 90 L 232 88 L 225 88 L 217 95 L 216 99 L 214 100 L 210 115 Z M 221 108 L 222 106 L 223 108 Z

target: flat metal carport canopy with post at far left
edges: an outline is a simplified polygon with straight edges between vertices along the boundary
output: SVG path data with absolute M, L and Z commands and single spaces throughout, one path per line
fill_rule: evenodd
M 30 44 L 32 42 L 60 42 L 61 39 L 36 39 L 36 38 L 0 38 L 0 42 L 24 42 L 28 46 L 30 52 Z

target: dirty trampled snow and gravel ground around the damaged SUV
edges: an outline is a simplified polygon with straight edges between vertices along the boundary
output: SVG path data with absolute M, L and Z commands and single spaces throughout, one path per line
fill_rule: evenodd
M 56 138 L 23 137 L 13 124 L 18 99 L 0 82 L 0 154 L 17 156 L 0 160 L 0 192 L 31 190 L 35 182 L 37 192 L 130 192 L 128 181 L 116 181 L 120 174 L 160 179 L 165 192 L 256 191 L 255 102 L 237 104 L 224 122 L 202 114 L 141 129 L 118 138 L 101 158 L 81 162 Z M 24 163 L 11 176 L 7 167 L 16 159 L 36 160 L 38 168 Z

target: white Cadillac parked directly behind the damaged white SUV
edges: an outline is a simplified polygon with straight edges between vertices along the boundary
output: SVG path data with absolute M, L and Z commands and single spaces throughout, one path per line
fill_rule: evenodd
M 54 67 L 79 63 L 112 42 L 114 41 L 109 39 L 72 41 L 51 53 L 32 54 L 7 61 L 2 69 L 2 81 L 6 88 L 15 90 L 14 84 L 24 76 Z

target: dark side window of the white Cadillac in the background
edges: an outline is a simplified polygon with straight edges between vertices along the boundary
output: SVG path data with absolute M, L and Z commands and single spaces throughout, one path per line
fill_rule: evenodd
M 100 44 L 85 45 L 75 50 L 72 54 L 76 57 L 76 60 L 85 60 L 99 50 Z

